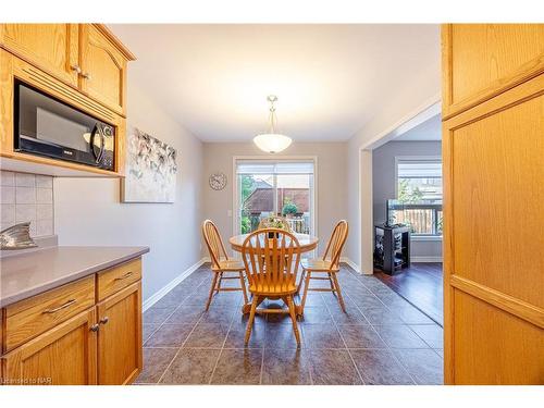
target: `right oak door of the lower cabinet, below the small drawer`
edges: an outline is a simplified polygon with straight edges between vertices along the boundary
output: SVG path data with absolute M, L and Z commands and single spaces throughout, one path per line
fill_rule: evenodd
M 128 384 L 141 371 L 141 282 L 98 304 L 98 383 Z

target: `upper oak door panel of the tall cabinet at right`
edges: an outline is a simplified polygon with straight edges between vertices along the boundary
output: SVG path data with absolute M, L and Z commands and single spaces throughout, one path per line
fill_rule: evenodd
M 443 29 L 444 116 L 544 71 L 544 24 L 453 24 Z M 539 40 L 540 39 L 540 40 Z

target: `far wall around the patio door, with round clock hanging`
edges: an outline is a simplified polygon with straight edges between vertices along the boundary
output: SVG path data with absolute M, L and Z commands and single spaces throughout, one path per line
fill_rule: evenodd
M 320 251 L 324 249 L 329 235 L 337 221 L 347 217 L 345 143 L 294 143 L 274 158 L 285 156 L 316 156 L 318 158 L 318 203 L 317 227 L 321 238 Z M 233 157 L 263 156 L 252 143 L 206 143 L 203 145 L 203 213 L 220 228 L 223 239 L 233 235 Z M 221 171 L 228 181 L 223 190 L 215 191 L 208 186 L 208 177 Z M 227 211 L 232 211 L 228 217 Z M 348 237 L 349 242 L 350 237 Z M 202 252 L 205 254 L 205 252 Z

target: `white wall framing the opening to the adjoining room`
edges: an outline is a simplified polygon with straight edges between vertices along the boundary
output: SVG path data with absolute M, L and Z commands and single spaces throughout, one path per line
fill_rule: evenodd
M 380 114 L 370 120 L 348 141 L 348 221 L 353 227 L 346 255 L 361 265 L 363 273 L 372 273 L 372 236 L 367 231 L 361 235 L 362 225 L 372 223 L 372 197 L 366 193 L 368 189 L 361 188 L 368 185 L 368 178 L 371 178 L 371 175 L 364 172 L 364 169 L 369 169 L 369 154 L 361 154 L 361 149 L 374 147 L 373 144 L 379 143 L 381 138 L 438 101 L 440 74 L 440 61 L 435 61 L 421 71 L 419 77 L 407 78 L 406 88 L 399 89 L 395 98 L 383 103 Z

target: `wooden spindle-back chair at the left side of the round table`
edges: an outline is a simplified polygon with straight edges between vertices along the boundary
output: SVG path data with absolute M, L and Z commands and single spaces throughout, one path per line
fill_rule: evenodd
M 211 283 L 210 296 L 208 296 L 208 301 L 206 302 L 206 311 L 210 308 L 211 299 L 213 295 L 220 292 L 232 292 L 242 290 L 244 295 L 244 304 L 248 302 L 247 292 L 246 292 L 246 280 L 244 276 L 244 262 L 228 257 L 219 234 L 218 227 L 211 220 L 206 220 L 202 223 L 202 235 L 210 252 L 211 259 L 211 270 L 214 272 L 213 281 Z M 228 273 L 235 273 L 236 275 L 228 275 Z M 223 280 L 239 280 L 240 287 L 221 287 Z

